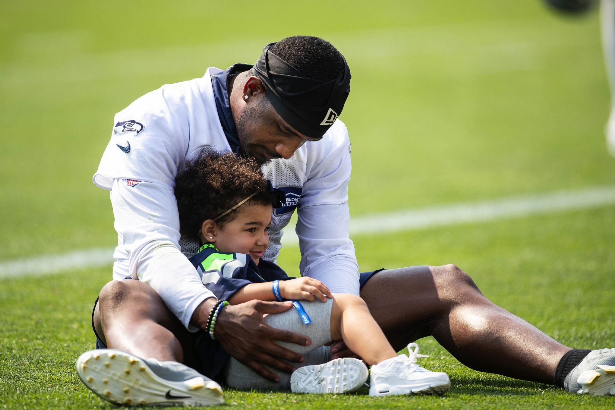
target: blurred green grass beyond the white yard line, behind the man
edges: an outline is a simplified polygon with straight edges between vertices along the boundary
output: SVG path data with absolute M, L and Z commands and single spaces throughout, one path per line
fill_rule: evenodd
M 353 216 L 615 183 L 597 10 L 25 1 L 2 2 L 0 23 L 2 260 L 113 246 L 108 193 L 91 179 L 114 114 L 293 34 L 327 39 L 352 69 Z

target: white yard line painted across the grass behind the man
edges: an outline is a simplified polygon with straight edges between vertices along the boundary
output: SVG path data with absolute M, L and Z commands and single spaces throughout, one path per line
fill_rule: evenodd
M 493 221 L 518 216 L 581 210 L 615 204 L 615 186 L 579 191 L 552 192 L 506 199 L 466 202 L 416 210 L 377 213 L 352 218 L 351 236 L 370 233 L 412 231 L 454 224 Z M 298 245 L 293 226 L 285 229 L 282 243 Z M 17 259 L 0 263 L 0 278 L 20 275 L 49 275 L 75 269 L 92 269 L 113 262 L 113 248 L 77 250 L 64 254 Z

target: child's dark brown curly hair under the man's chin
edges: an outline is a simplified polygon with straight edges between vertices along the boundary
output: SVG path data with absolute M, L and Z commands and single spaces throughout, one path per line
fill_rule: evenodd
M 201 151 L 196 159 L 181 165 L 175 184 L 180 232 L 192 237 L 198 235 L 207 219 L 215 219 L 223 227 L 245 205 L 279 204 L 260 166 L 253 159 L 236 157 L 231 152 Z M 243 205 L 216 219 L 252 194 L 255 195 Z

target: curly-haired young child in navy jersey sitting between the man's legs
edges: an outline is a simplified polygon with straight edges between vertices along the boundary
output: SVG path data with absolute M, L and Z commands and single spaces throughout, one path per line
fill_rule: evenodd
M 445 373 L 415 365 L 416 358 L 426 357 L 418 355 L 418 345 L 408 345 L 410 357 L 395 353 L 359 296 L 331 294 L 322 282 L 310 277 L 290 278 L 276 264 L 262 259 L 269 246 L 272 209 L 280 207 L 285 198 L 264 178 L 255 162 L 232 154 L 201 154 L 185 165 L 176 183 L 180 231 L 197 235 L 203 244 L 191 261 L 204 285 L 220 301 L 210 315 L 209 331 L 204 332 L 197 347 L 206 376 L 213 378 L 222 372 L 224 381 L 234 387 L 288 388 L 284 374 L 276 371 L 282 381 L 271 384 L 247 366 L 229 360 L 213 339 L 215 319 L 224 309 L 224 301 L 239 304 L 253 299 L 290 299 L 295 301 L 296 310 L 267 315 L 265 320 L 274 328 L 312 340 L 308 347 L 280 342 L 306 357 L 303 367 L 290 377 L 293 392 L 354 392 L 363 385 L 368 371 L 360 360 L 339 358 L 323 363 L 328 358 L 321 355 L 320 361 L 312 361 L 322 364 L 309 365 L 308 353 L 336 340 L 343 340 L 372 366 L 371 396 L 448 391 L 450 381 Z

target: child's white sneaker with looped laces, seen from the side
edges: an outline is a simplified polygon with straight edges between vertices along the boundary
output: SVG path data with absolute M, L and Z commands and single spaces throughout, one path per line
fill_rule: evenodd
M 411 348 L 415 347 L 415 350 Z M 371 366 L 370 396 L 435 394 L 443 395 L 451 388 L 446 373 L 437 373 L 415 365 L 419 355 L 416 343 L 408 345 L 408 354 L 387 359 Z

